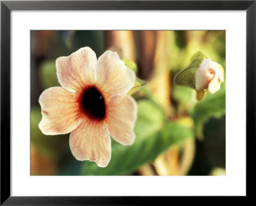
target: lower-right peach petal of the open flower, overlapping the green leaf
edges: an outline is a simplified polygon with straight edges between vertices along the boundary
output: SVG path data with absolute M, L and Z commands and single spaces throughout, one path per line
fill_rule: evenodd
M 110 135 L 122 145 L 131 145 L 134 142 L 133 131 L 138 107 L 136 101 L 128 95 L 115 95 L 107 107 L 107 124 Z

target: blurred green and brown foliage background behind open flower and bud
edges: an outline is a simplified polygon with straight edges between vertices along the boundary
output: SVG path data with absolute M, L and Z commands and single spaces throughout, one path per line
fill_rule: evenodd
M 46 136 L 38 128 L 40 94 L 60 85 L 55 60 L 81 47 L 97 57 L 118 52 L 147 81 L 132 94 L 136 141 L 125 147 L 111 140 L 106 168 L 77 161 L 69 134 Z M 31 31 L 31 175 L 225 175 L 225 82 L 202 101 L 173 82 L 198 51 L 225 69 L 225 31 Z

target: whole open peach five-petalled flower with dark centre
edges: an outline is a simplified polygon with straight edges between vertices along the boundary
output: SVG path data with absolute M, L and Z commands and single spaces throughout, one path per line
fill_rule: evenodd
M 69 144 L 78 160 L 105 167 L 111 159 L 111 139 L 122 145 L 134 142 L 136 101 L 127 92 L 135 74 L 116 52 L 106 51 L 98 61 L 89 47 L 56 60 L 62 87 L 42 92 L 39 103 L 45 135 L 70 133 Z

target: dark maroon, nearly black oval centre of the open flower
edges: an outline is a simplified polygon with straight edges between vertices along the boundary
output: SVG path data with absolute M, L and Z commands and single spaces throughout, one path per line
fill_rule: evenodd
M 86 114 L 95 119 L 104 119 L 106 115 L 104 97 L 95 87 L 86 88 L 82 95 L 81 105 Z

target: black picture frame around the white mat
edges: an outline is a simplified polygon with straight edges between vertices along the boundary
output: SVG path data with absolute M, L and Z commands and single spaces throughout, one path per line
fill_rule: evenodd
M 156 197 L 11 196 L 10 12 L 12 10 L 244 10 L 246 11 L 246 197 L 255 186 L 256 2 L 253 1 L 1 1 L 1 205 L 150 205 Z M 162 199 L 170 197 L 158 197 Z M 158 202 L 159 200 L 157 200 Z M 160 203 L 160 202 L 159 202 Z

